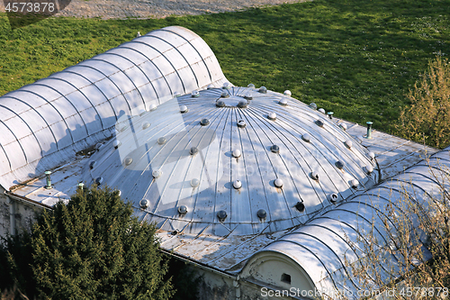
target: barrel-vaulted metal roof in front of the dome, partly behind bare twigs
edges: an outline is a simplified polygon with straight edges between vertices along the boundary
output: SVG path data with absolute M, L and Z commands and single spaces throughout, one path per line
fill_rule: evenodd
M 393 255 L 384 247 L 392 249 L 390 234 L 401 234 L 397 232 L 392 215 L 408 214 L 411 228 L 420 233 L 418 215 L 405 211 L 404 199 L 410 198 L 424 212 L 432 214 L 433 209 L 444 204 L 444 197 L 450 193 L 449 179 L 450 147 L 285 234 L 248 259 L 243 273 L 248 276 L 258 259 L 276 252 L 296 261 L 318 290 L 331 293 L 347 291 L 346 295 L 356 297 L 362 286 L 349 266 L 365 259 L 363 241 L 376 241 L 378 244 L 374 250 L 386 259 L 379 269 L 387 280 L 388 270 L 395 274 L 398 271 L 396 262 L 401 259 L 400 254 Z M 385 222 L 393 232 L 387 232 Z M 422 250 L 428 257 L 428 250 Z M 336 294 L 329 296 L 337 297 Z

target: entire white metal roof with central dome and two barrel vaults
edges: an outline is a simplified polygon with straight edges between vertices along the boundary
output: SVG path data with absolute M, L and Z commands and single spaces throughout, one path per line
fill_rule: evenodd
M 345 235 L 379 228 L 371 216 L 407 179 L 419 195 L 433 192 L 422 165 L 369 187 L 435 150 L 382 132 L 366 140 L 365 127 L 339 126 L 290 95 L 231 86 L 193 32 L 149 32 L 0 97 L 0 184 L 34 178 L 14 194 L 54 205 L 98 180 L 157 222 L 166 250 L 235 274 L 276 252 L 311 277 L 305 286 L 355 289 L 342 256 L 362 253 Z M 110 137 L 91 157 L 75 155 Z M 448 151 L 437 157 L 450 161 Z

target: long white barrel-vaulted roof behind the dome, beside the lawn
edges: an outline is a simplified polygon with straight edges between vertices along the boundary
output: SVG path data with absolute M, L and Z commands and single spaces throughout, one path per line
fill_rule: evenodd
M 226 82 L 197 34 L 148 32 L 0 97 L 0 184 L 39 176 L 111 136 L 117 120 Z

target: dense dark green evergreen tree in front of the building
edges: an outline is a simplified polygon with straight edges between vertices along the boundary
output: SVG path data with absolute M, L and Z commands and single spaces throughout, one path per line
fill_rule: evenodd
M 170 298 L 174 291 L 170 279 L 164 279 L 167 259 L 157 250 L 155 233 L 153 224 L 139 223 L 132 216 L 130 204 L 125 205 L 116 191 L 78 190 L 67 205 L 59 202 L 54 210 L 40 214 L 31 234 L 23 235 L 31 244 L 36 295 Z

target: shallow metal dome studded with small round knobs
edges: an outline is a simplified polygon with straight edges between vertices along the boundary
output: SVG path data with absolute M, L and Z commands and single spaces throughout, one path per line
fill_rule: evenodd
M 252 87 L 123 117 L 91 161 L 85 182 L 120 189 L 142 220 L 220 236 L 291 228 L 376 181 L 367 150 L 329 116 Z

